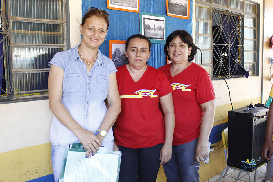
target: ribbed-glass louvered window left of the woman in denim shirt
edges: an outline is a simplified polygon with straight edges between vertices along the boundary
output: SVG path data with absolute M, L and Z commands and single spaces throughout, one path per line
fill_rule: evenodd
M 67 49 L 65 0 L 5 1 L 10 32 L 11 64 L 6 72 L 12 79 L 2 84 L 1 98 L 29 98 L 48 94 L 48 62 Z M 3 3 L 2 3 L 3 4 Z M 3 8 L 1 8 L 3 10 Z M 5 84 L 6 83 L 6 84 Z M 4 88 L 4 89 L 3 89 Z M 5 92 L 6 91 L 6 92 Z

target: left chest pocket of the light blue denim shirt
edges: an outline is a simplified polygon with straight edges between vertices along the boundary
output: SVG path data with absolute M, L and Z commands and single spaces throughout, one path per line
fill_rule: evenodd
M 64 78 L 64 92 L 72 93 L 80 91 L 80 74 L 68 73 Z

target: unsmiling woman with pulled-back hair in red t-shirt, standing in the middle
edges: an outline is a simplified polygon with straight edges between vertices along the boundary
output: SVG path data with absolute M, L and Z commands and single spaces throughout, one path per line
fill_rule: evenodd
M 132 35 L 125 48 L 129 64 L 117 68 L 121 113 L 114 140 L 122 153 L 120 182 L 155 182 L 160 165 L 171 158 L 173 89 L 164 73 L 146 64 L 150 47 L 146 36 Z

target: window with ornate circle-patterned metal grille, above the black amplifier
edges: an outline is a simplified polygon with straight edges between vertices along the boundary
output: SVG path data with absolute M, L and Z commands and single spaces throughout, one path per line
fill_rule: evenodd
M 202 50 L 202 63 L 200 51 L 196 63 L 212 79 L 247 76 L 247 71 L 249 76 L 258 75 L 259 4 L 243 0 L 195 2 L 195 43 Z

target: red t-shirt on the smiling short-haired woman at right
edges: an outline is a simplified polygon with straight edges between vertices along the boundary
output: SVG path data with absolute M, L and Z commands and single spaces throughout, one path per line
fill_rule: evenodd
M 174 91 L 175 130 L 173 145 L 188 143 L 199 136 L 203 111 L 200 104 L 215 99 L 211 78 L 205 69 L 192 63 L 172 77 L 171 64 L 159 68 L 167 76 Z

